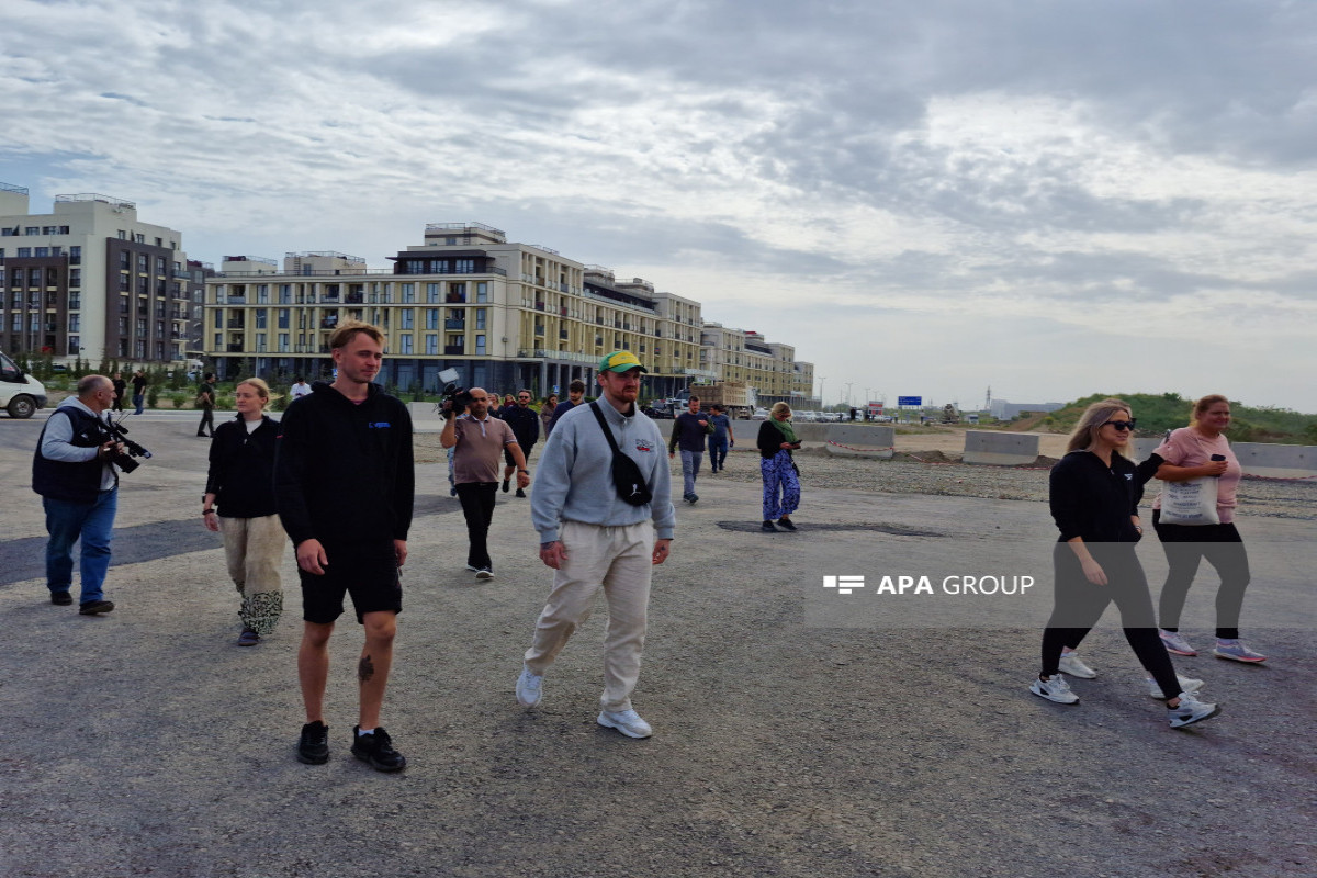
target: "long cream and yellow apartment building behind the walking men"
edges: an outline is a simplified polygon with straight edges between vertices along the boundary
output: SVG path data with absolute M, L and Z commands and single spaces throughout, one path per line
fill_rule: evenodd
M 290 253 L 283 265 L 227 257 L 207 282 L 205 353 L 221 376 L 242 371 L 329 374 L 329 333 L 365 320 L 386 333 L 379 380 L 403 391 L 458 383 L 536 395 L 581 378 L 599 359 L 632 350 L 651 374 L 644 394 L 685 387 L 699 369 L 699 303 L 618 282 L 543 245 L 508 242 L 479 222 L 425 226 L 424 244 L 373 270 L 341 253 Z

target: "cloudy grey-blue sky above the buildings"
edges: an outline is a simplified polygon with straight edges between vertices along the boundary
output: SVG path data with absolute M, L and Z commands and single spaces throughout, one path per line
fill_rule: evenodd
M 0 180 L 188 255 L 479 221 L 827 401 L 1317 412 L 1317 4 L 5 0 Z

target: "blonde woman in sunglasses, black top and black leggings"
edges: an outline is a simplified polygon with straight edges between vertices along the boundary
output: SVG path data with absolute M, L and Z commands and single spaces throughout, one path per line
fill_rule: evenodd
M 1175 673 L 1154 629 L 1152 596 L 1134 549 L 1143 534 L 1138 511 L 1143 484 L 1160 458 L 1137 467 L 1125 457 L 1133 432 L 1125 401 L 1093 403 L 1075 426 L 1065 457 L 1052 467 L 1050 504 L 1060 530 L 1052 552 L 1055 607 L 1043 631 L 1042 670 L 1029 691 L 1058 704 L 1079 703 L 1060 673 L 1062 649 L 1077 648 L 1114 602 L 1125 638 L 1156 682 L 1171 725 L 1180 728 L 1210 719 L 1220 708 L 1189 692 L 1201 681 Z

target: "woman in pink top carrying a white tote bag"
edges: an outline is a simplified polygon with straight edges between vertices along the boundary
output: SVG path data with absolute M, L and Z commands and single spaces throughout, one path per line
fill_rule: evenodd
M 1159 617 L 1162 642 L 1176 656 L 1198 653 L 1180 636 L 1180 611 L 1189 595 L 1189 586 L 1206 558 L 1221 575 L 1217 590 L 1217 646 L 1218 658 L 1237 662 L 1264 662 L 1267 657 L 1249 649 L 1239 640 L 1239 608 L 1249 587 L 1249 553 L 1234 527 L 1235 488 L 1243 470 L 1230 442 L 1223 436 L 1230 426 L 1230 400 L 1220 394 L 1204 396 L 1193 405 L 1193 420 L 1188 426 L 1173 430 L 1154 452 L 1164 463 L 1156 478 L 1163 482 L 1185 482 L 1197 478 L 1217 478 L 1217 513 L 1221 524 L 1163 524 L 1162 498 L 1152 504 L 1152 528 L 1162 540 L 1162 549 L 1169 571 L 1162 586 Z

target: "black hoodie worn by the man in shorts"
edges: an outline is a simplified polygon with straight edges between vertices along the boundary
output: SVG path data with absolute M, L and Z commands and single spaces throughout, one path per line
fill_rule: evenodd
M 370 384 L 360 405 L 325 382 L 283 413 L 274 494 L 292 545 L 406 540 L 412 519 L 407 407 Z

